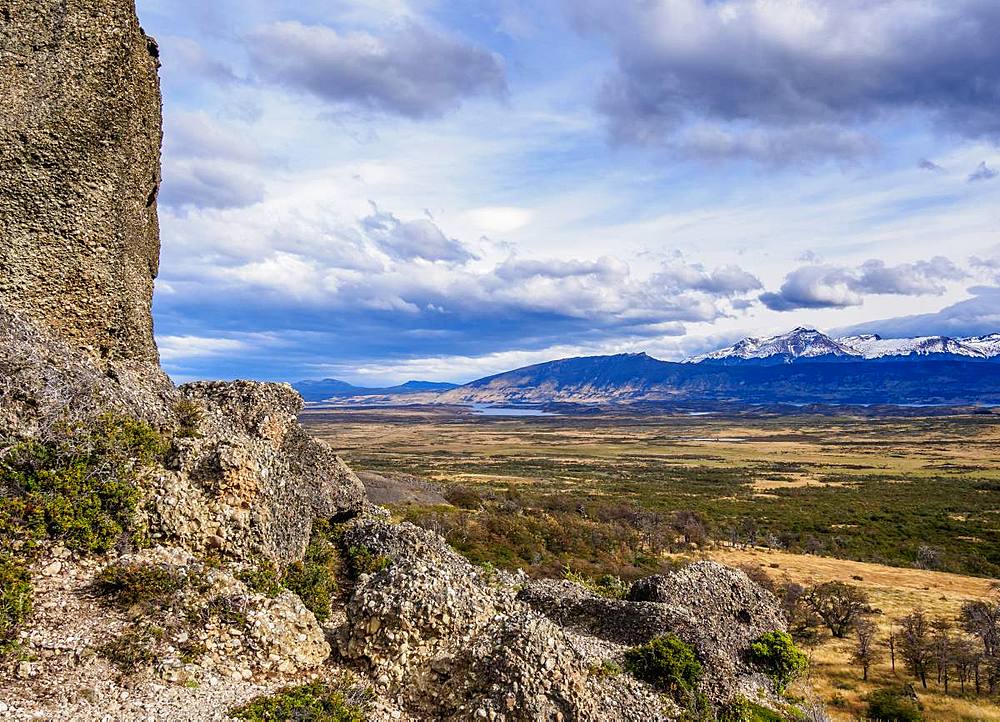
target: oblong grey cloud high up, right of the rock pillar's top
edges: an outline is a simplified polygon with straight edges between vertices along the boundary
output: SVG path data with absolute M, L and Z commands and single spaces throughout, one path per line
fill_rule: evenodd
M 499 56 L 414 21 L 386 37 L 272 23 L 252 34 L 248 50 L 267 82 L 410 118 L 438 117 L 466 98 L 507 92 Z

